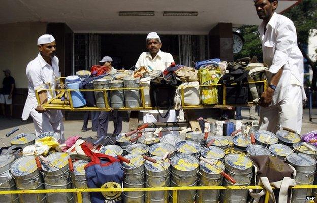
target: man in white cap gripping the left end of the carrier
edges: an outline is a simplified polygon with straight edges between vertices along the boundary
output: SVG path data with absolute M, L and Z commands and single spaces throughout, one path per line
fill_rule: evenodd
M 55 131 L 60 133 L 61 142 L 64 141 L 64 126 L 62 123 L 62 113 L 60 110 L 46 110 L 38 105 L 35 90 L 55 89 L 54 80 L 59 75 L 59 60 L 55 56 L 56 43 L 52 35 L 42 35 L 38 38 L 38 56 L 26 66 L 26 76 L 28 79 L 28 95 L 24 105 L 22 119 L 26 120 L 31 115 L 36 136 L 39 134 Z M 44 85 L 50 83 L 49 85 Z M 40 104 L 55 97 L 55 91 L 38 91 Z

